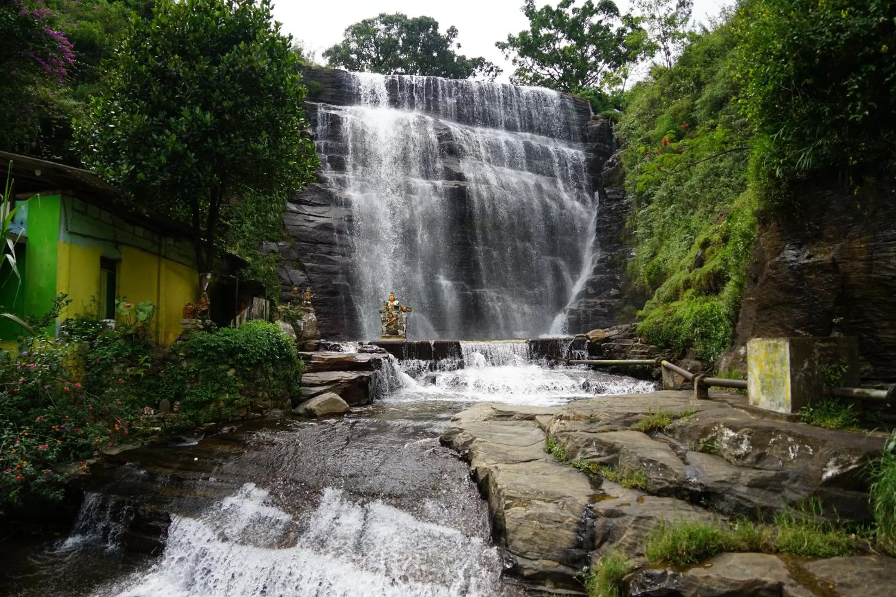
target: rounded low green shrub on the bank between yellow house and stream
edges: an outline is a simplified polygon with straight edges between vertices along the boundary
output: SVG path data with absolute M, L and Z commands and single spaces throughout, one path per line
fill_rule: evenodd
M 303 364 L 273 323 L 197 333 L 173 346 L 156 399 L 181 403 L 181 426 L 228 419 L 251 402 L 278 404 L 301 391 Z

